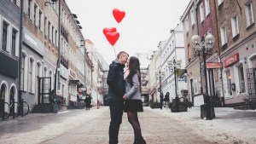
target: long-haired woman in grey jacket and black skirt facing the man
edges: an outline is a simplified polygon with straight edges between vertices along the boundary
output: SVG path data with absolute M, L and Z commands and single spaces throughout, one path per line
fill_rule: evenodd
M 141 91 L 140 62 L 137 57 L 131 56 L 127 60 L 125 79 L 124 111 L 127 112 L 128 121 L 134 130 L 134 144 L 146 144 L 143 139 L 141 126 L 137 118 L 137 112 L 143 112 Z

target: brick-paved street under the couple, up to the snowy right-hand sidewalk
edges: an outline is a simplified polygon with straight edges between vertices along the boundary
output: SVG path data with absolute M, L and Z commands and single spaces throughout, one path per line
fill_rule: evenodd
M 211 143 L 196 135 L 177 120 L 144 108 L 139 113 L 143 137 L 148 144 Z M 90 111 L 70 110 L 58 114 L 29 114 L 25 118 L 0 123 L 1 142 L 44 144 L 104 144 L 108 143 L 108 107 Z M 124 113 L 119 131 L 119 143 L 133 142 L 133 130 Z

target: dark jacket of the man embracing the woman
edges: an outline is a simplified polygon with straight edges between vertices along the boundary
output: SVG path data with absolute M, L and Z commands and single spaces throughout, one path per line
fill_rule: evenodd
M 123 101 L 125 95 L 124 67 L 118 60 L 113 60 L 108 71 L 108 101 Z

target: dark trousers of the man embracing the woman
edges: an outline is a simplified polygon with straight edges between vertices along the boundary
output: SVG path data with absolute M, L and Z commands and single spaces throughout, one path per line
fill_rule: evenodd
M 109 144 L 119 143 L 119 127 L 122 123 L 124 102 L 108 101 L 110 108 Z

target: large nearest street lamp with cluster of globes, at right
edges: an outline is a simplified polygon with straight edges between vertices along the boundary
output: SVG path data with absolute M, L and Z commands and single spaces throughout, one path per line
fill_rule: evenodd
M 193 43 L 193 47 L 195 48 L 195 52 L 197 55 L 202 55 L 203 58 L 203 67 L 204 67 L 204 77 L 205 77 L 205 84 L 206 84 L 206 94 L 204 95 L 204 102 L 206 104 L 206 115 L 207 120 L 212 120 L 211 112 L 214 112 L 214 107 L 211 107 L 210 96 L 208 95 L 208 86 L 207 86 L 207 53 L 212 52 L 213 43 L 215 38 L 212 34 L 207 34 L 206 37 L 199 37 L 198 35 L 194 35 L 191 37 L 191 41 Z M 212 108 L 212 111 L 211 111 Z

